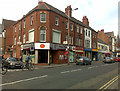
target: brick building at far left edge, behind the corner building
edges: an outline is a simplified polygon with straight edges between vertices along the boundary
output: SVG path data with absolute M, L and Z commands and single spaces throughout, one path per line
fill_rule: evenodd
M 13 45 L 13 24 L 16 21 L 3 19 L 2 20 L 2 55 L 4 58 L 12 55 Z

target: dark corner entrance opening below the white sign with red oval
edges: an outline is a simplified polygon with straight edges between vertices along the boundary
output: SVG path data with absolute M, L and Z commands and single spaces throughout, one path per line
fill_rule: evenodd
M 48 63 L 48 51 L 38 51 L 38 63 Z

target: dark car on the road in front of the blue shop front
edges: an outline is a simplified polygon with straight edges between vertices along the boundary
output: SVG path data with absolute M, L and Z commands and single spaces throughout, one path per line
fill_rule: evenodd
M 91 65 L 91 59 L 84 57 L 84 56 L 77 57 L 76 58 L 76 65 L 79 65 L 79 64 L 83 64 L 83 65 L 90 64 Z

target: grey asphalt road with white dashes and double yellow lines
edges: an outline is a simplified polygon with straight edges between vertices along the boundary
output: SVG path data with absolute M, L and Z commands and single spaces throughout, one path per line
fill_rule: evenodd
M 68 65 L 34 71 L 10 71 L 2 77 L 3 89 L 118 89 L 120 64 Z M 99 91 L 99 90 L 98 90 Z

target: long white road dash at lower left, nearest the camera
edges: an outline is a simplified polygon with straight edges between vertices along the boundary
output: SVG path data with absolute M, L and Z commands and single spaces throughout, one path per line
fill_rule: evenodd
M 38 77 L 28 78 L 28 79 L 24 79 L 24 80 L 14 81 L 14 82 L 10 82 L 10 83 L 4 83 L 4 84 L 0 84 L 0 86 L 16 84 L 16 83 L 25 82 L 25 81 L 30 81 L 30 80 L 39 79 L 39 78 L 45 78 L 45 77 L 47 77 L 47 76 L 48 76 L 48 75 L 44 75 L 44 76 L 38 76 Z

